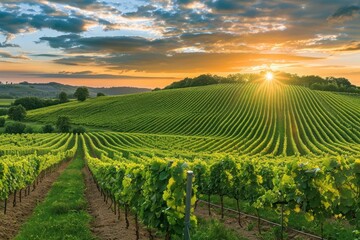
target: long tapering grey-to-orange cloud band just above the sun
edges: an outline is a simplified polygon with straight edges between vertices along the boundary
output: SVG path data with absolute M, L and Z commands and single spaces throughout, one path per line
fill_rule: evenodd
M 254 53 L 161 53 L 119 54 L 104 57 L 74 56 L 54 60 L 55 63 L 73 66 L 103 66 L 119 71 L 148 73 L 237 72 L 243 67 L 264 63 L 289 63 L 317 58 L 284 54 Z

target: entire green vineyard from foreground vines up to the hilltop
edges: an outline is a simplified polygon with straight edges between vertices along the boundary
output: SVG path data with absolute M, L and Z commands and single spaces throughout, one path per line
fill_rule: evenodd
M 74 229 L 67 229 L 64 222 L 73 222 L 75 213 L 80 220 L 74 224 L 84 230 L 77 231 L 75 239 L 90 238 L 85 231 L 92 224 L 86 201 L 93 203 L 89 195 L 80 197 L 85 194 L 82 187 L 76 193 L 71 189 L 76 181 L 84 182 L 76 173 L 83 165 L 87 166 L 83 175 L 95 183 L 85 181 L 86 189 L 92 195 L 97 189 L 101 192 L 100 199 L 109 206 L 104 211 L 111 209 L 112 215 L 125 219 L 123 233 L 134 226 L 126 237 L 181 238 L 188 170 L 194 172 L 190 220 L 194 239 L 208 239 L 199 231 L 213 227 L 207 223 L 211 218 L 224 222 L 220 228 L 225 229 L 232 227 L 223 219 L 235 219 L 235 236 L 241 239 L 286 235 L 317 239 L 294 235 L 294 228 L 327 239 L 358 237 L 360 102 L 356 96 L 276 83 L 225 84 L 70 102 L 30 111 L 27 120 L 54 123 L 58 116 L 92 130 L 79 135 L 0 136 L 0 200 L 4 202 L 18 199 L 21 191 L 37 185 L 50 170 L 75 159 L 71 171 L 55 184 L 64 190 L 53 191 L 63 191 L 64 196 L 74 191 L 78 201 L 66 206 L 66 199 L 57 201 L 50 194 L 17 239 L 36 236 L 36 226 L 48 218 L 55 221 L 51 231 L 61 234 L 56 222 L 61 219 L 64 231 L 71 232 Z M 209 202 L 220 210 L 210 208 Z M 224 207 L 252 214 L 255 221 L 241 214 L 229 216 Z M 264 226 L 261 217 L 279 223 L 280 230 Z M 0 216 L 2 226 L 6 217 Z M 44 239 L 47 231 L 45 226 L 38 238 Z M 13 237 L 5 234 L 0 237 Z

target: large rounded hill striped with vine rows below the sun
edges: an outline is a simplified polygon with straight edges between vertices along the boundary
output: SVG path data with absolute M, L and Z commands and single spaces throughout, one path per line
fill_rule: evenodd
M 248 154 L 359 153 L 360 104 L 349 96 L 276 83 L 225 84 L 71 102 L 28 119 L 120 132 L 217 136 Z

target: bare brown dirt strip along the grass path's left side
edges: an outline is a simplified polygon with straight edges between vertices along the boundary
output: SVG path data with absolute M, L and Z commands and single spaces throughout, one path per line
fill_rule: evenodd
M 31 216 L 37 204 L 45 199 L 46 194 L 49 192 L 52 186 L 52 183 L 65 170 L 68 164 L 69 161 L 64 162 L 56 171 L 47 174 L 43 181 L 36 186 L 35 190 L 30 192 L 30 195 L 24 197 L 24 191 L 22 191 L 21 202 L 19 201 L 19 195 L 17 195 L 17 203 L 15 207 L 13 207 L 14 195 L 10 195 L 5 215 L 4 202 L 1 202 L 0 239 L 5 240 L 15 237 L 15 235 L 20 230 L 21 225 Z

